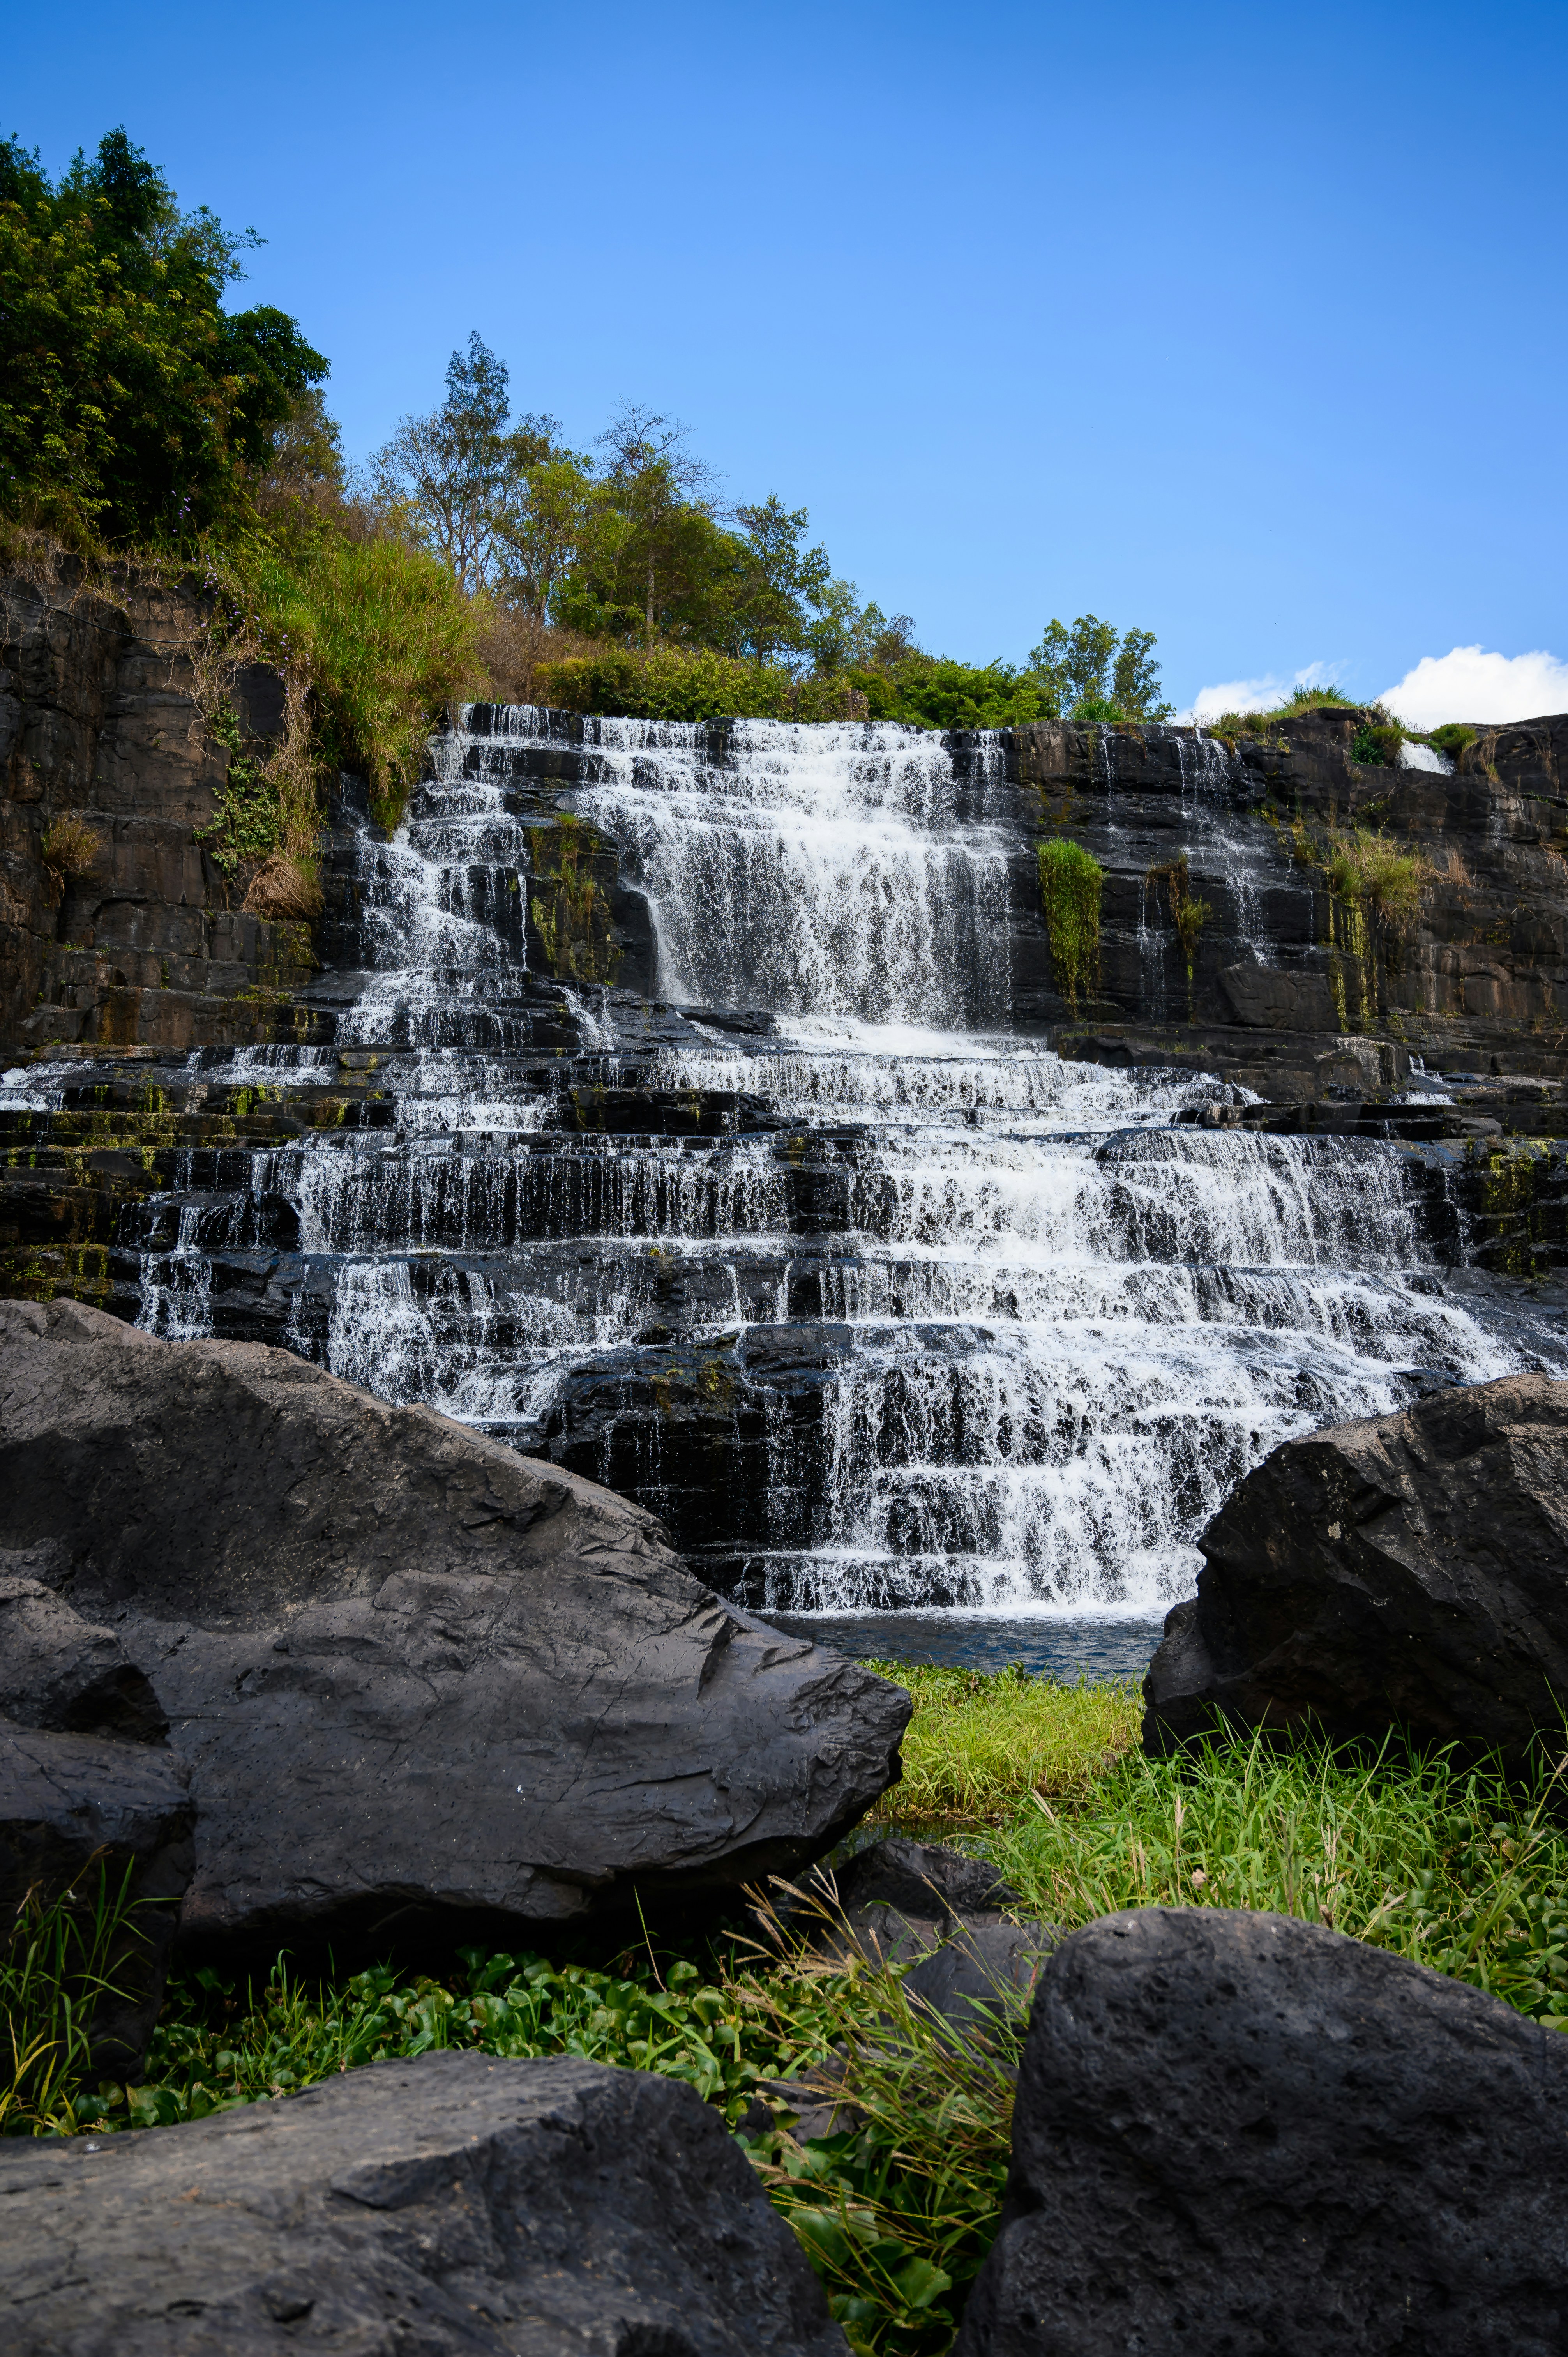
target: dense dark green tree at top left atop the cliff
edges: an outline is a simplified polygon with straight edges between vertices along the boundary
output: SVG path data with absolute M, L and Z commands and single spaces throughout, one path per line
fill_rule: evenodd
M 0 144 L 0 507 L 172 544 L 248 511 L 274 429 L 328 375 L 285 311 L 224 311 L 250 245 L 182 214 L 125 130 L 59 184 Z

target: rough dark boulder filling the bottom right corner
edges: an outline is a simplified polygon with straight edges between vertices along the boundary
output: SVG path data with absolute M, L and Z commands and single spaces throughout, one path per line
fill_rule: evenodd
M 1101 1916 L 1045 1966 L 957 2357 L 1559 2357 L 1568 2041 L 1316 1923 Z

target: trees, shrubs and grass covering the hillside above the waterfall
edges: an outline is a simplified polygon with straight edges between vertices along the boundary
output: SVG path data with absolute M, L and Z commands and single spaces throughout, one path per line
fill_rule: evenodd
M 349 469 L 328 358 L 285 311 L 229 309 L 255 243 L 182 210 L 123 130 L 59 181 L 0 144 L 0 563 L 66 552 L 111 596 L 127 568 L 203 592 L 189 653 L 231 750 L 210 849 L 252 905 L 309 912 L 321 778 L 361 771 L 396 820 L 457 698 L 922 728 L 1167 712 L 1153 634 L 1096 615 L 1052 620 L 1026 665 L 929 653 L 804 507 L 724 500 L 637 403 L 573 448 L 514 410 L 479 335 Z M 285 676 L 281 745 L 245 745 L 224 693 L 255 660 Z

